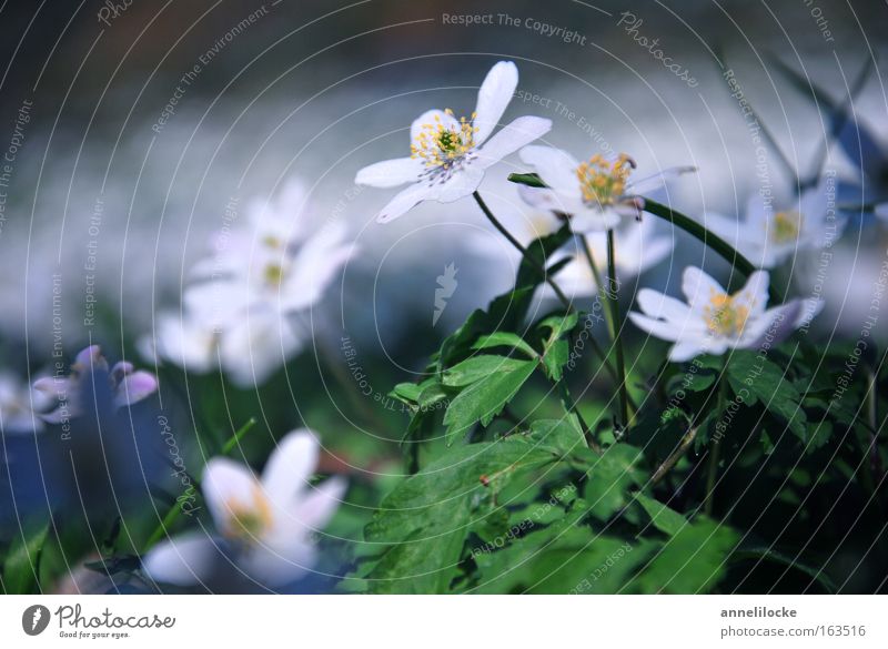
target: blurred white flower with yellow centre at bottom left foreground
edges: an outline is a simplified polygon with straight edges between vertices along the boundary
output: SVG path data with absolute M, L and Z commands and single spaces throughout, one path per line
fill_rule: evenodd
M 311 540 L 336 511 L 346 483 L 340 477 L 310 485 L 320 443 L 310 430 L 286 435 L 258 478 L 226 458 L 206 463 L 201 490 L 218 535 L 191 533 L 155 546 L 144 557 L 155 581 L 191 586 L 233 559 L 248 577 L 276 587 L 291 584 L 316 560 Z

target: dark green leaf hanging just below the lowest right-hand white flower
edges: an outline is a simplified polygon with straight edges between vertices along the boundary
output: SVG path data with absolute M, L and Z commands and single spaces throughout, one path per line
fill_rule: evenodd
M 784 377 L 777 365 L 755 352 L 735 352 L 727 367 L 728 381 L 736 395 L 748 405 L 761 403 L 771 414 L 789 426 L 803 443 L 808 443 L 808 427 L 801 395 L 793 383 Z

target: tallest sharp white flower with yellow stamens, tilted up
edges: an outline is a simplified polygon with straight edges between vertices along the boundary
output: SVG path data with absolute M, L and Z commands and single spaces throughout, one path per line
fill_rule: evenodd
M 450 109 L 430 110 L 411 125 L 411 156 L 385 160 L 357 172 L 355 183 L 396 187 L 412 183 L 385 205 L 376 220 L 397 219 L 417 203 L 451 203 L 474 192 L 484 171 L 525 144 L 545 135 L 552 120 L 523 116 L 493 131 L 515 94 L 518 69 L 511 61 L 496 63 L 478 90 L 475 112 L 457 120 Z

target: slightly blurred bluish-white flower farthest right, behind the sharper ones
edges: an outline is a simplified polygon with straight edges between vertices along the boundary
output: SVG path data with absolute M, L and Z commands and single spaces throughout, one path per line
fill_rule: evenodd
M 831 245 L 846 223 L 835 214 L 835 184 L 825 178 L 785 209 L 775 209 L 756 192 L 743 221 L 707 214 L 704 225 L 756 266 L 773 268 L 801 251 Z

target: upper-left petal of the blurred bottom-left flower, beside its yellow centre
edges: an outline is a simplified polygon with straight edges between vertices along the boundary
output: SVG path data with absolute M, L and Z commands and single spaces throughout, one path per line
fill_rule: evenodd
M 220 531 L 229 527 L 234 509 L 261 507 L 261 489 L 253 471 L 225 457 L 214 457 L 203 469 L 201 491 Z

